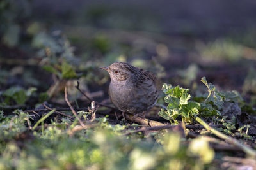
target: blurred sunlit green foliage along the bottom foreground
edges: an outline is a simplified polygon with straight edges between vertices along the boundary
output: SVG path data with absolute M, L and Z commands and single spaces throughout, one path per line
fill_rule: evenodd
M 1 169 L 203 169 L 214 158 L 207 141 L 201 138 L 186 146 L 173 132 L 159 136 L 159 143 L 124 137 L 125 125 L 111 125 L 106 117 L 97 118 L 95 129 L 72 135 L 66 120 L 31 132 L 25 125 L 29 115 L 15 113 L 19 115 L 0 114 L 4 118 L 0 122 Z M 22 136 L 26 136 L 25 142 Z M 196 145 L 198 142 L 204 145 Z

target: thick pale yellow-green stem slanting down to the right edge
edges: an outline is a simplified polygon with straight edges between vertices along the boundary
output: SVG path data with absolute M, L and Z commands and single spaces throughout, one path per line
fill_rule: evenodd
M 196 115 L 194 115 L 195 120 L 203 125 L 205 127 L 205 129 L 207 129 L 208 131 L 211 131 L 213 134 L 215 134 L 216 136 L 218 136 L 221 139 L 224 139 L 225 141 L 227 141 L 228 143 L 231 143 L 234 146 L 237 146 L 239 148 L 241 148 L 246 154 L 252 156 L 252 157 L 256 157 L 256 151 L 253 150 L 252 148 L 243 145 L 242 143 L 240 143 L 239 141 L 237 141 L 237 139 L 231 138 L 219 131 L 217 131 L 216 129 L 212 128 L 211 126 L 209 126 L 206 122 L 204 122 L 204 120 L 202 120 L 201 118 L 197 117 Z

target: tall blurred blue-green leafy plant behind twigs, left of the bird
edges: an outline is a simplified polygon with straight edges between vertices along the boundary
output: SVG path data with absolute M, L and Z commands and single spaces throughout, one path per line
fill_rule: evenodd
M 45 57 L 42 65 L 45 71 L 56 74 L 61 79 L 77 78 L 74 49 L 60 31 L 53 32 L 52 36 L 39 32 L 33 38 L 32 45 L 40 48 L 38 54 Z

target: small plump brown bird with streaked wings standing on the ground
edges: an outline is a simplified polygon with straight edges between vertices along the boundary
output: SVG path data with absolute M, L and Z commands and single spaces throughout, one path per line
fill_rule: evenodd
M 156 104 L 158 92 L 153 73 L 125 62 L 100 68 L 110 75 L 109 97 L 119 110 L 137 115 Z

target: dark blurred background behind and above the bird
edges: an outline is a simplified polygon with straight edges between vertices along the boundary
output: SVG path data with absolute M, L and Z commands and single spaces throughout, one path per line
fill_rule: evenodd
M 2 105 L 58 103 L 65 85 L 79 98 L 77 80 L 102 101 L 109 76 L 99 67 L 116 61 L 152 71 L 159 89 L 198 89 L 205 76 L 256 103 L 253 0 L 1 0 L 0 23 Z

